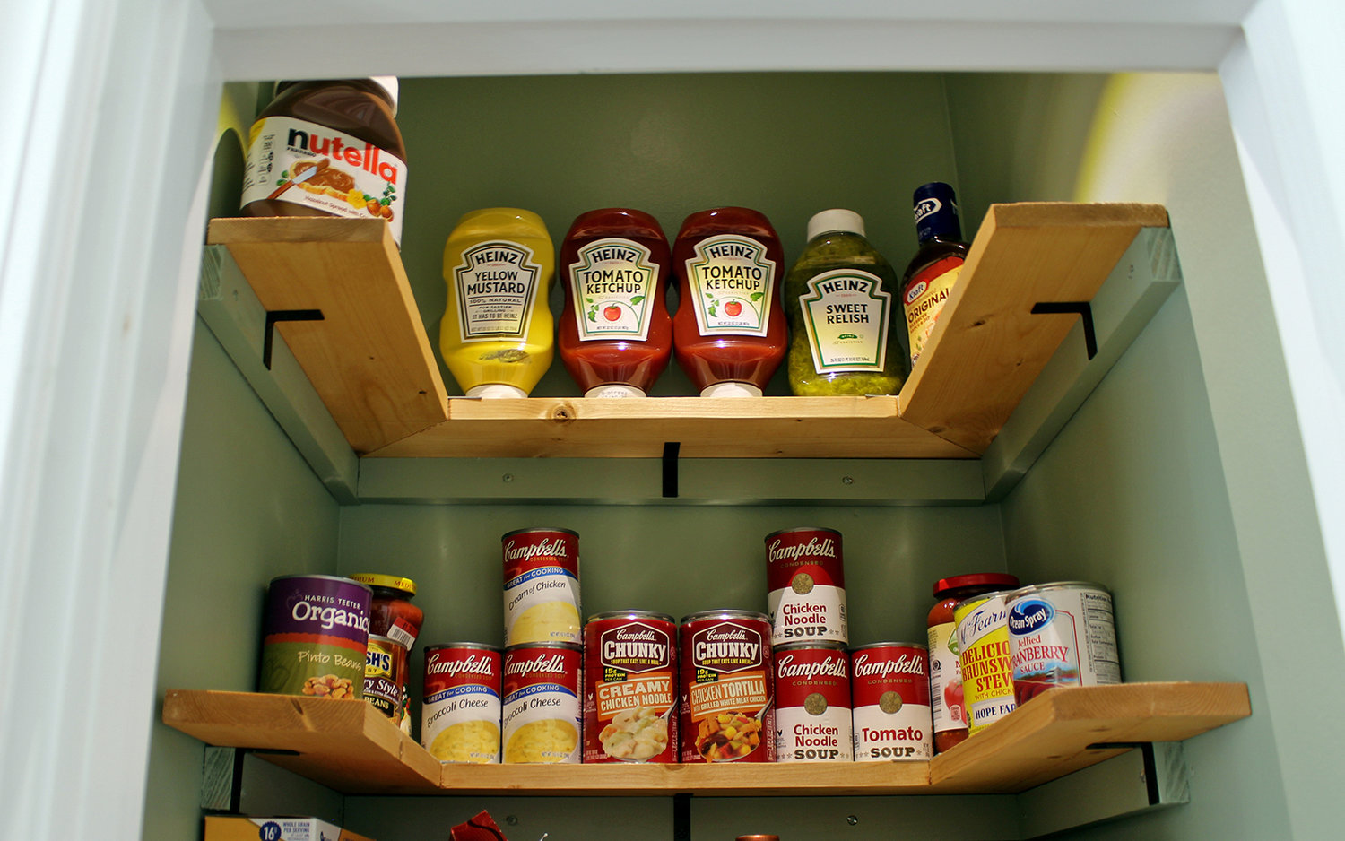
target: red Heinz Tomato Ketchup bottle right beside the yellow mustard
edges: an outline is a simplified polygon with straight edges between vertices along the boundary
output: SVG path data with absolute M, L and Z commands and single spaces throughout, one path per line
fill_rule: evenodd
M 672 256 L 658 219 L 625 207 L 580 214 L 558 268 L 565 370 L 585 397 L 644 397 L 672 354 Z

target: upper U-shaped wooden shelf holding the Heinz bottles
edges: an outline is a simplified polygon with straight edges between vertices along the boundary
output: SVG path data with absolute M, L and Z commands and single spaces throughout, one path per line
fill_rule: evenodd
M 215 219 L 277 330 L 359 455 L 967 459 L 983 453 L 1158 205 L 994 205 L 897 397 L 452 398 L 381 219 Z M 1083 353 L 1083 349 L 1079 349 Z

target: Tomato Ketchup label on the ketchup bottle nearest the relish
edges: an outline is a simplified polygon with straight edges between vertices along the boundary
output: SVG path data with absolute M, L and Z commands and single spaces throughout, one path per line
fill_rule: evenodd
M 764 244 L 738 234 L 706 237 L 686 261 L 686 276 L 702 336 L 767 335 L 775 261 Z

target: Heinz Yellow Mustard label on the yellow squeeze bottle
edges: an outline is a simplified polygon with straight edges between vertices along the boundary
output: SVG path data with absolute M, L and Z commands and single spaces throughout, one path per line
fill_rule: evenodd
M 526 245 L 491 240 L 464 250 L 453 268 L 463 340 L 527 338 L 541 276 L 542 266 Z

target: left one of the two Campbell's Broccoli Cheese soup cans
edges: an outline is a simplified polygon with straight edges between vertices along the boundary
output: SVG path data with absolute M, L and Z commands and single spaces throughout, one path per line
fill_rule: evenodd
M 421 744 L 440 762 L 499 763 L 500 661 L 477 642 L 425 649 Z

